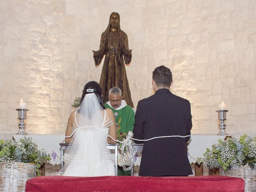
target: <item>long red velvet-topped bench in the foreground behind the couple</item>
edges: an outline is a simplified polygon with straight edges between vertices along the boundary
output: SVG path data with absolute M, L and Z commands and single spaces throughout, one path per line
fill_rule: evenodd
M 25 192 L 243 192 L 244 180 L 229 176 L 39 176 Z

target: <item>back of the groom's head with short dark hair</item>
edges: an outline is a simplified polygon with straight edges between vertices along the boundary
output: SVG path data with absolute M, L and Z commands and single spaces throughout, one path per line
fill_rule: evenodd
M 172 83 L 172 72 L 169 68 L 161 65 L 155 68 L 152 78 L 156 82 L 156 86 L 170 87 Z

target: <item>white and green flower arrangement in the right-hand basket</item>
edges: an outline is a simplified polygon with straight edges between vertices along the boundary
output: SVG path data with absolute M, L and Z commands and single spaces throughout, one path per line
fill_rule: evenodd
M 237 138 L 218 140 L 218 144 L 207 148 L 204 153 L 203 164 L 210 169 L 222 168 L 224 171 L 231 167 L 241 167 L 246 164 L 254 169 L 256 164 L 256 137 L 247 135 Z

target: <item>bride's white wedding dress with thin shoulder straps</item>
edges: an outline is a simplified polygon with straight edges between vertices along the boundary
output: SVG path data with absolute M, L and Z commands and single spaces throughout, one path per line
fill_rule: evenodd
M 88 94 L 85 97 L 88 97 Z M 81 114 L 81 111 L 75 112 L 76 125 L 72 126 L 73 139 L 64 154 L 64 167 L 58 173 L 59 175 L 88 177 L 115 175 L 114 162 L 111 160 L 110 151 L 106 148 L 106 133 L 112 121 L 105 120 L 106 110 L 104 110 L 101 123 L 94 125 L 96 121 L 94 118 L 98 119 L 99 116 L 95 117 L 95 112 L 92 114 L 92 117 L 84 120 L 86 117 Z M 82 124 L 79 124 L 79 120 L 77 121 L 77 116 L 80 122 L 83 122 Z M 92 124 L 91 121 L 94 123 Z M 81 126 L 84 124 L 88 126 Z

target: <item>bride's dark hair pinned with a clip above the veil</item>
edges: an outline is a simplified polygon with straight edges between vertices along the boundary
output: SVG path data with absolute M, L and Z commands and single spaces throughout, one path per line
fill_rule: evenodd
M 92 92 L 88 92 L 88 89 L 93 89 L 93 93 L 96 94 L 100 106 L 102 106 L 103 109 L 105 109 L 104 106 L 104 100 L 102 98 L 102 88 L 100 87 L 100 84 L 98 84 L 96 81 L 89 81 L 88 83 L 85 84 L 84 86 L 84 90 L 83 90 L 83 94 L 80 100 L 80 104 L 82 103 L 82 100 L 84 99 L 84 96 L 88 93 L 92 93 Z

